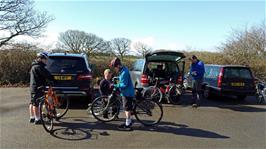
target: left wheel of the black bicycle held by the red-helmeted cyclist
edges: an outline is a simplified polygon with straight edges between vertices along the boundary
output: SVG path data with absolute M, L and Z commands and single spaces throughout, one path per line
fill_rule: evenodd
M 108 100 L 107 96 L 101 96 L 96 98 L 91 104 L 91 113 L 93 117 L 99 121 L 112 121 L 119 114 L 120 102 L 118 100 L 113 100 L 108 104 Z

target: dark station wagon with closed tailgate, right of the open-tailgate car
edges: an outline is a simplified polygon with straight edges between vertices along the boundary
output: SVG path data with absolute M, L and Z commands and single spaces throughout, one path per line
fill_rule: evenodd
M 243 100 L 255 95 L 255 79 L 249 67 L 240 65 L 205 65 L 204 96 L 236 96 Z

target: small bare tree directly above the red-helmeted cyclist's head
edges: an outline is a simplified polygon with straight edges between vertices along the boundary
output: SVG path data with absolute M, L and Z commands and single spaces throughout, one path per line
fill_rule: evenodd
M 130 52 L 131 40 L 127 38 L 115 38 L 111 40 L 111 48 L 113 54 L 119 56 L 121 59 L 124 58 Z

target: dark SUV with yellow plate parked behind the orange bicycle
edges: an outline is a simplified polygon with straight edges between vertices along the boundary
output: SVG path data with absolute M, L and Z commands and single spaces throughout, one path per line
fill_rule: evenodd
M 49 54 L 47 69 L 56 80 L 54 89 L 68 96 L 84 96 L 91 100 L 91 68 L 85 54 Z

